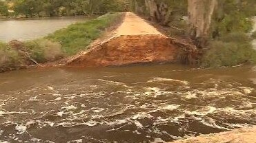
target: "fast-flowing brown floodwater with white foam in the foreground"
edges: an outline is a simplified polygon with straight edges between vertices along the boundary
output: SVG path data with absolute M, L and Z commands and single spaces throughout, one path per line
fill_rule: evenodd
M 0 142 L 169 142 L 256 125 L 256 67 L 0 74 Z

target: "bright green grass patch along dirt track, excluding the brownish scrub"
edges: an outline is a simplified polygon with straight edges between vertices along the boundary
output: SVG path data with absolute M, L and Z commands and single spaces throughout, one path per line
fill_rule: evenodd
M 108 13 L 85 23 L 72 24 L 50 34 L 46 39 L 61 43 L 62 50 L 67 55 L 76 54 L 79 50 L 86 50 L 93 40 L 99 38 L 101 33 L 120 17 L 119 12 Z

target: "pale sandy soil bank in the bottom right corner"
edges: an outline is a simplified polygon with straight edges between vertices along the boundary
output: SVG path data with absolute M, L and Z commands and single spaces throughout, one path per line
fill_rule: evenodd
M 187 140 L 171 143 L 255 143 L 256 126 L 247 129 L 236 129 L 229 132 L 201 135 Z

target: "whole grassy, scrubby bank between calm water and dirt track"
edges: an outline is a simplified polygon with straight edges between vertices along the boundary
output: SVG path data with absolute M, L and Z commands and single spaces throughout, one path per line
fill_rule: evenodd
M 0 72 L 57 61 L 86 50 L 106 28 L 119 23 L 122 15 L 121 12 L 104 14 L 97 19 L 69 25 L 43 39 L 0 43 Z

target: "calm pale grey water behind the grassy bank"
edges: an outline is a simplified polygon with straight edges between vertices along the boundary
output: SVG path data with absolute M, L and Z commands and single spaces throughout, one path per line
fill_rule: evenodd
M 0 21 L 0 41 L 28 41 L 41 38 L 72 23 L 86 21 L 85 17 L 46 18 Z

